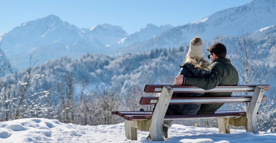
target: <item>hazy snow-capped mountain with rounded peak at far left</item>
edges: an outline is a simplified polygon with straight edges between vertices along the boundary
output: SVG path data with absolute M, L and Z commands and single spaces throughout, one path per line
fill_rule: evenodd
M 61 56 L 81 56 L 102 51 L 102 45 L 83 38 L 80 30 L 59 17 L 51 15 L 29 21 L 5 33 L 0 48 L 15 66 L 44 63 Z M 31 60 L 31 63 L 30 63 Z

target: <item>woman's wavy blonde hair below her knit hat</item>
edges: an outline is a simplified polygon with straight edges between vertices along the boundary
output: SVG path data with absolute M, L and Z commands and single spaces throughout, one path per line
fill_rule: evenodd
M 193 64 L 195 68 L 201 68 L 203 70 L 209 70 L 211 68 L 210 63 L 203 58 L 191 58 L 189 55 L 186 55 L 184 64 Z

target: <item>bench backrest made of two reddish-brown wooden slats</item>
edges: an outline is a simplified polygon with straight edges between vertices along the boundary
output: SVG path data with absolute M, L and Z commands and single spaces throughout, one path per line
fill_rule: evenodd
M 144 91 L 146 93 L 160 93 L 164 86 L 171 87 L 174 93 L 223 93 L 223 92 L 254 92 L 255 88 L 261 87 L 264 91 L 268 91 L 270 85 L 237 85 L 237 86 L 217 86 L 211 90 L 203 90 L 194 86 L 179 85 L 152 85 L 147 84 Z M 141 97 L 141 105 L 157 104 L 159 97 Z M 171 98 L 169 104 L 208 104 L 208 103 L 242 103 L 250 102 L 252 96 L 197 96 Z M 266 96 L 262 96 L 261 102 L 266 100 Z

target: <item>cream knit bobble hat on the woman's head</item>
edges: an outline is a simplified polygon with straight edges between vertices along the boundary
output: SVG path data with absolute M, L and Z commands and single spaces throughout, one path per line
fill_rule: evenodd
M 191 58 L 203 58 L 204 57 L 202 40 L 200 37 L 195 37 L 194 39 L 191 40 L 187 55 Z

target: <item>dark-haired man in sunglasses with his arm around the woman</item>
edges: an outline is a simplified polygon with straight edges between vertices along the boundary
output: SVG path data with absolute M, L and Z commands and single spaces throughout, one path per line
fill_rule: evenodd
M 210 90 L 216 86 L 238 85 L 239 75 L 236 68 L 226 59 L 226 47 L 221 43 L 213 43 L 209 48 L 208 58 L 211 60 L 212 72 L 209 76 L 203 78 L 190 78 L 182 75 L 175 77 L 176 85 L 191 85 Z M 206 93 L 205 96 L 231 96 L 232 93 Z M 202 104 L 198 114 L 213 114 L 223 103 Z

